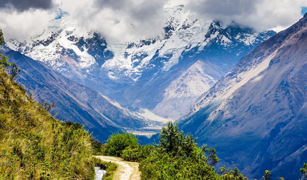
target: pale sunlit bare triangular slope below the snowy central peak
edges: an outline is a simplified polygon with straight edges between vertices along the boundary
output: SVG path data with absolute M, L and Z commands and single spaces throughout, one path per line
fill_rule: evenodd
M 153 109 L 154 113 L 169 119 L 178 119 L 187 112 L 196 99 L 207 91 L 216 79 L 204 73 L 205 64 L 196 61 L 164 90 L 163 100 Z

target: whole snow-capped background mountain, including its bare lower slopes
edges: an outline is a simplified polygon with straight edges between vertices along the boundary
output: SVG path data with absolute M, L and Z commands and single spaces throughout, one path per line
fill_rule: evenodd
M 202 22 L 184 6 L 165 8 L 165 15 L 165 36 L 160 38 L 108 43 L 64 15 L 41 35 L 7 45 L 126 108 L 147 108 L 177 119 L 243 55 L 275 34 Z

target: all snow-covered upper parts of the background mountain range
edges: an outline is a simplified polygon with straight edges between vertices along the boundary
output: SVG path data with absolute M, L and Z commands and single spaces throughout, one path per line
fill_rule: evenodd
M 70 71 L 84 76 L 80 73 L 80 69 L 86 68 L 90 73 L 93 67 L 103 64 L 103 69 L 111 72 L 110 79 L 117 80 L 119 76 L 125 75 L 136 81 L 146 68 L 156 66 L 151 62 L 153 58 L 166 58 L 161 62 L 161 70 L 168 71 L 178 63 L 184 51 L 187 52 L 196 46 L 199 46 L 198 51 L 201 51 L 210 41 L 219 41 L 218 39 L 225 46 L 232 42 L 229 37 L 220 35 L 219 31 L 210 34 L 210 38 L 205 38 L 210 25 L 215 29 L 224 29 L 224 27 L 193 19 L 188 12 L 185 12 L 183 6 L 166 8 L 165 14 L 167 22 L 164 39 L 148 38 L 139 42 L 108 44 L 108 46 L 107 42 L 103 42 L 99 48 L 114 54 L 103 58 L 105 63 L 96 61 L 97 54 L 89 53 L 88 45 L 80 45 L 80 39 L 89 40 L 95 37 L 94 32 L 78 28 L 77 24 L 66 21 L 65 16 L 51 21 L 49 29 L 41 35 L 23 42 L 10 40 L 7 41 L 7 45 L 35 60 L 45 62 L 66 76 Z M 246 45 L 253 45 L 258 37 L 259 33 L 240 33 L 235 39 Z

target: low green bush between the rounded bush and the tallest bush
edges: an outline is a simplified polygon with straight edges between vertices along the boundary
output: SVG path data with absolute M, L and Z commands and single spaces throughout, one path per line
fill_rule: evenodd
M 153 153 L 154 151 L 155 147 L 152 145 L 138 147 L 129 146 L 122 151 L 122 158 L 125 161 L 140 162 L 143 159 L 146 159 L 150 153 Z

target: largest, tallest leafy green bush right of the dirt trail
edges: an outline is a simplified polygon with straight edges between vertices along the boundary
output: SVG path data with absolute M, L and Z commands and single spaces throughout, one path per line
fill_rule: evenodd
M 213 148 L 197 147 L 197 138 L 184 135 L 178 125 L 168 122 L 161 129 L 154 153 L 140 162 L 143 180 L 215 180 L 219 175 L 212 165 L 218 162 Z M 127 152 L 128 153 L 128 152 Z M 123 153 L 124 154 L 124 153 Z

